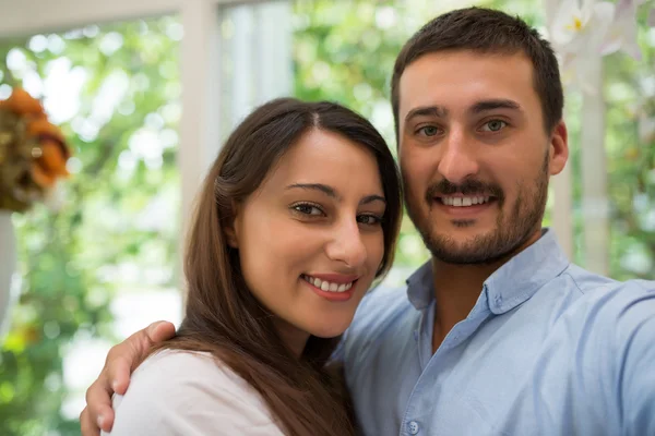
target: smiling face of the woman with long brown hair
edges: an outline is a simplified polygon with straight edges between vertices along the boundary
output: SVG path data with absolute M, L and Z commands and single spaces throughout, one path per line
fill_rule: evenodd
M 345 331 L 384 254 L 385 201 L 371 152 L 312 130 L 237 207 L 230 245 L 251 292 L 300 352 Z

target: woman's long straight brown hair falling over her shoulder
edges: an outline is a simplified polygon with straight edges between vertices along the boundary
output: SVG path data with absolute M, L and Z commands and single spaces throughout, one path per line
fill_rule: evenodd
M 289 147 L 311 129 L 337 133 L 376 156 L 386 210 L 384 256 L 391 267 L 402 214 L 397 168 L 365 118 L 331 102 L 276 99 L 254 110 L 233 132 L 206 175 L 184 258 L 187 313 L 176 338 L 158 349 L 211 352 L 257 389 L 279 426 L 293 436 L 354 434 L 337 383 L 325 364 L 340 338 L 310 337 L 298 360 L 285 347 L 271 314 L 247 288 L 239 256 L 224 226 L 234 205 L 252 194 Z

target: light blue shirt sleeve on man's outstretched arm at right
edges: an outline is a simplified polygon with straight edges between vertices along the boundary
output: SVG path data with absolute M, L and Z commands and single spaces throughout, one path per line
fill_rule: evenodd
M 558 318 L 496 434 L 655 435 L 655 283 L 646 286 L 593 292 Z

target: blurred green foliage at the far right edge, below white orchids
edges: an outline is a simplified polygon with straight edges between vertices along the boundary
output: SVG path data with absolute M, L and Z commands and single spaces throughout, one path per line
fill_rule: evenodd
M 605 61 L 610 274 L 618 280 L 655 279 L 655 1 L 639 9 L 638 22 L 642 59 Z

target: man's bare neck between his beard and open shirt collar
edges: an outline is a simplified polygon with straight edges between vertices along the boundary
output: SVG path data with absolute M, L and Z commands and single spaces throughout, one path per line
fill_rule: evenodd
M 432 282 L 437 301 L 432 352 L 437 351 L 455 324 L 468 316 L 480 295 L 485 280 L 540 237 L 539 228 L 514 253 L 490 264 L 453 265 L 432 258 Z

